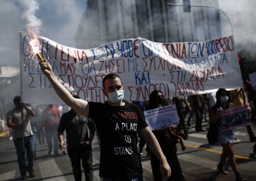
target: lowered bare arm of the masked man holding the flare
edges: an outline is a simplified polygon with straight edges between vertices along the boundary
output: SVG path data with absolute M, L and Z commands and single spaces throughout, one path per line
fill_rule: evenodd
M 164 180 L 167 180 L 171 176 L 171 168 L 169 164 L 167 163 L 167 160 L 164 156 L 164 153 L 162 149 L 160 148 L 160 145 L 158 141 L 156 140 L 155 135 L 152 133 L 152 131 L 149 129 L 149 127 L 143 128 L 139 130 L 140 134 L 146 141 L 147 145 L 151 149 L 151 151 L 156 155 L 156 157 L 160 161 L 160 171 L 162 173 L 162 176 Z

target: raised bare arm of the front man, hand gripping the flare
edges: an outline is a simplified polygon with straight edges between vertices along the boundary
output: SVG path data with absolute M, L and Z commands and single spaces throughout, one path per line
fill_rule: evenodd
M 89 114 L 89 105 L 88 102 L 82 99 L 73 98 L 70 92 L 58 81 L 58 79 L 54 76 L 52 72 L 52 66 L 49 62 L 44 58 L 44 60 L 40 60 L 39 62 L 40 69 L 43 74 L 47 77 L 47 79 L 52 84 L 53 89 L 58 94 L 58 96 L 63 100 L 65 104 L 72 107 L 76 112 L 82 114 L 84 116 L 88 116 Z

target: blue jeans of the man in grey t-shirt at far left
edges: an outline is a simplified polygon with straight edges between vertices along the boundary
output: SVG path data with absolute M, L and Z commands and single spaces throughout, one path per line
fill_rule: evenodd
M 18 156 L 18 164 L 20 168 L 20 174 L 26 174 L 27 170 L 32 170 L 33 162 L 34 162 L 34 154 L 35 154 L 35 142 L 34 136 L 27 136 L 24 138 L 25 142 L 25 149 L 27 152 L 28 157 L 28 164 L 26 166 L 26 158 L 25 158 L 25 151 L 22 151 L 22 138 L 14 138 L 13 142 L 16 148 L 16 153 Z

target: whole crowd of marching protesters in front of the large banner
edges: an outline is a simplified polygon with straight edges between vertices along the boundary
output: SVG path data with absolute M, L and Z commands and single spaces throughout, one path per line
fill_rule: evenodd
M 245 181 L 240 176 L 234 158 L 232 144 L 235 142 L 235 129 L 222 131 L 220 129 L 220 111 L 218 107 L 228 109 L 234 106 L 246 105 L 244 88 L 227 91 L 220 88 L 217 92 L 205 95 L 180 96 L 164 99 L 161 91 L 151 92 L 148 101 L 135 104 L 124 101 L 124 84 L 116 74 L 108 74 L 103 79 L 103 94 L 108 98 L 106 103 L 87 102 L 72 96 L 68 90 L 53 75 L 51 65 L 47 60 L 39 62 L 44 75 L 52 84 L 58 96 L 66 103 L 67 112 L 49 104 L 44 109 L 39 105 L 26 105 L 20 96 L 13 100 L 15 108 L 7 113 L 7 125 L 12 129 L 12 138 L 17 150 L 21 180 L 25 180 L 27 172 L 35 177 L 33 161 L 36 160 L 36 138 L 39 144 L 47 142 L 48 156 L 58 156 L 58 150 L 67 148 L 75 180 L 82 179 L 81 160 L 86 181 L 93 180 L 92 140 L 97 132 L 100 139 L 100 172 L 101 181 L 144 180 L 141 165 L 143 147 L 147 144 L 147 156 L 150 157 L 155 181 L 185 180 L 177 157 L 176 143 L 185 149 L 182 139 L 188 138 L 190 120 L 195 119 L 195 131 L 206 131 L 202 126 L 203 119 L 217 124 L 218 142 L 223 151 L 217 169 L 222 174 L 228 174 L 223 164 L 228 162 L 235 173 L 236 180 Z M 249 82 L 246 82 L 249 86 Z M 250 95 L 253 96 L 253 94 Z M 250 104 L 255 101 L 249 98 Z M 161 127 L 151 131 L 143 111 L 176 105 L 179 124 L 171 127 Z M 252 119 L 255 119 L 255 108 L 252 107 Z M 69 109 L 70 108 L 70 109 Z M 63 109 L 64 110 L 64 107 Z M 124 114 L 128 113 L 128 114 Z M 128 116 L 128 115 L 136 116 Z M 189 114 L 188 122 L 185 117 Z M 67 138 L 63 135 L 66 131 Z M 252 125 L 247 126 L 250 141 L 255 141 Z M 140 143 L 137 148 L 138 138 Z M 52 142 L 53 140 L 53 142 Z M 111 141 L 109 141 L 111 140 Z M 27 153 L 27 161 L 25 150 Z

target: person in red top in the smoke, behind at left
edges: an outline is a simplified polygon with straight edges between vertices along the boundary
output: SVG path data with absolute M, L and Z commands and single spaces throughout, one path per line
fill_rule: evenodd
M 54 107 L 53 104 L 49 104 L 43 111 L 42 115 L 42 130 L 45 131 L 45 138 L 49 148 L 48 155 L 52 156 L 52 139 L 54 155 L 58 156 L 58 136 L 57 130 L 60 120 L 60 110 Z

